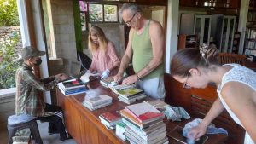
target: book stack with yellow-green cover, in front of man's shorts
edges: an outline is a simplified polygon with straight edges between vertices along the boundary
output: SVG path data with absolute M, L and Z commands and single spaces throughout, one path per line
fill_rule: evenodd
M 127 104 L 134 103 L 147 97 L 142 89 L 135 88 L 134 84 L 131 85 L 117 85 L 110 87 L 112 91 L 119 95 L 119 101 Z

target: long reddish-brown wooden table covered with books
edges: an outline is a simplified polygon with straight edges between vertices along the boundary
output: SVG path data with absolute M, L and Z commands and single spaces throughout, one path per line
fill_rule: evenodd
M 70 135 L 78 144 L 112 144 L 112 143 L 129 143 L 122 141 L 115 135 L 114 130 L 107 130 L 101 123 L 98 116 L 103 112 L 116 111 L 124 109 L 125 103 L 118 100 L 111 89 L 105 88 L 98 81 L 91 82 L 87 85 L 90 90 L 86 94 L 65 96 L 59 89 L 56 89 L 57 104 L 61 106 L 64 111 L 65 124 Z M 108 107 L 90 111 L 82 105 L 86 95 L 109 95 L 113 97 L 113 104 Z M 147 100 L 152 100 L 147 98 Z M 138 101 L 141 102 L 141 101 Z M 183 122 L 170 122 L 166 119 L 167 133 L 171 131 L 176 125 L 183 126 L 188 121 Z M 226 135 L 209 135 L 207 144 L 223 143 Z M 170 143 L 179 144 L 180 142 L 174 141 L 169 138 Z

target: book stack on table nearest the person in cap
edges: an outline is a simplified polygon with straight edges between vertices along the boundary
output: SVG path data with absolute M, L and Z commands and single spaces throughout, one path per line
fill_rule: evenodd
M 58 87 L 61 90 L 61 93 L 66 96 L 77 95 L 87 91 L 84 83 L 77 79 L 61 82 L 58 84 Z

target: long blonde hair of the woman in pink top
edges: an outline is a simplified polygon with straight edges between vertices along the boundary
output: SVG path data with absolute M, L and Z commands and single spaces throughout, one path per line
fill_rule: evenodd
M 95 32 L 97 37 L 98 37 L 98 42 L 99 45 L 97 45 L 96 43 L 92 42 L 91 39 L 91 32 Z M 90 33 L 89 33 L 89 37 L 88 37 L 88 47 L 91 53 L 95 53 L 96 49 L 100 49 L 101 51 L 105 52 L 107 49 L 107 45 L 108 45 L 108 39 L 105 36 L 104 32 L 102 31 L 102 28 L 99 26 L 92 26 L 90 28 Z

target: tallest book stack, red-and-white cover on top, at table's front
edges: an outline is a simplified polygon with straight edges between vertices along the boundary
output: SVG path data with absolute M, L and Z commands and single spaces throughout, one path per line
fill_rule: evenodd
M 120 111 L 130 143 L 167 144 L 165 115 L 147 102 L 126 106 Z

